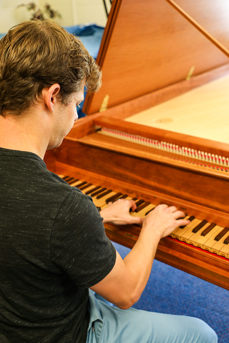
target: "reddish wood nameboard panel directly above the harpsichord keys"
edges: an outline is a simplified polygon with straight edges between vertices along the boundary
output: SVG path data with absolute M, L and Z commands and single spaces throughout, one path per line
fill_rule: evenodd
M 229 181 L 125 153 L 64 140 L 56 160 L 228 213 Z

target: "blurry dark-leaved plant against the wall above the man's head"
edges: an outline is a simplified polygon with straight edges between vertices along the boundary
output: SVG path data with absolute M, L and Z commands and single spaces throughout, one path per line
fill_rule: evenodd
M 49 4 L 45 4 L 43 10 L 38 8 L 35 2 L 30 2 L 28 4 L 21 3 L 16 8 L 19 8 L 19 7 L 26 7 L 27 11 L 32 12 L 31 13 L 32 17 L 30 18 L 30 20 L 45 19 L 45 18 L 54 19 L 56 17 L 61 18 L 61 14 L 58 11 L 53 10 Z

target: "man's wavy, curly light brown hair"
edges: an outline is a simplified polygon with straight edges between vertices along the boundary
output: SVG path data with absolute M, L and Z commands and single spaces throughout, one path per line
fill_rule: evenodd
M 0 40 L 0 115 L 19 115 L 42 99 L 45 87 L 58 83 L 68 104 L 82 81 L 89 92 L 101 86 L 101 70 L 80 39 L 52 20 L 26 21 Z

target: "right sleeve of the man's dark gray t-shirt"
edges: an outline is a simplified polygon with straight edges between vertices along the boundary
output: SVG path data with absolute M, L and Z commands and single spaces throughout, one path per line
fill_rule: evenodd
M 50 235 L 50 268 L 66 273 L 79 287 L 91 287 L 114 267 L 116 250 L 105 235 L 103 218 L 89 196 L 72 188 Z

